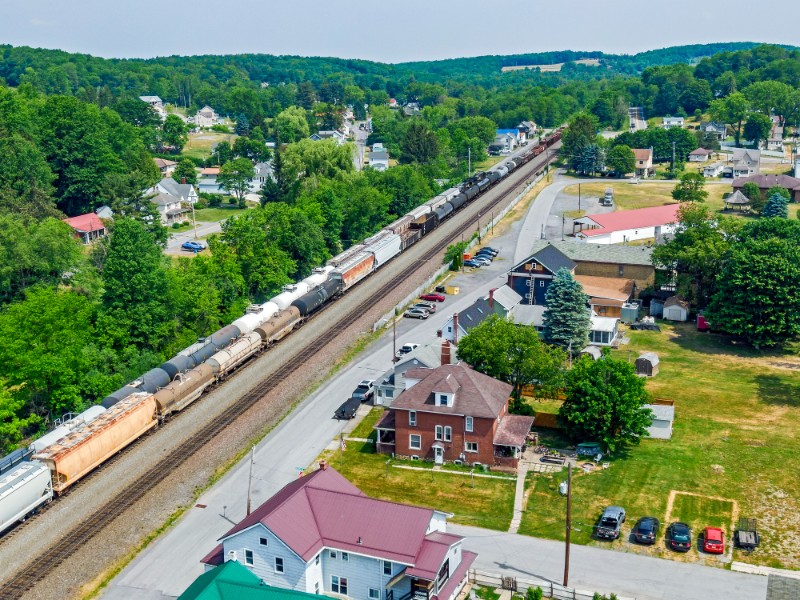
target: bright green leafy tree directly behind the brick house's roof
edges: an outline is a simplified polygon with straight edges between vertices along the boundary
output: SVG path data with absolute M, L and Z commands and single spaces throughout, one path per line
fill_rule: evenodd
M 522 398 L 526 385 L 555 389 L 562 383 L 564 352 L 542 342 L 533 327 L 498 315 L 491 315 L 459 341 L 458 358 L 476 371 L 510 383 L 516 400 Z

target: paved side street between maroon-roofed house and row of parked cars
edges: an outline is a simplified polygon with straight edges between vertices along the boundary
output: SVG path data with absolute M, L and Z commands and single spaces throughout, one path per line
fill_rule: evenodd
M 478 553 L 478 570 L 563 581 L 563 542 L 462 525 L 448 525 L 448 531 L 464 536 L 464 548 Z M 569 585 L 579 590 L 636 600 L 763 600 L 767 594 L 767 578 L 760 575 L 575 544 L 570 557 Z

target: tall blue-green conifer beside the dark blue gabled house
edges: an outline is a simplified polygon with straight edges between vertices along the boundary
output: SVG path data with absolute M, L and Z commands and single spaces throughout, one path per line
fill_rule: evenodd
M 580 352 L 589 337 L 589 297 L 567 269 L 559 269 L 547 288 L 544 310 L 544 340 Z

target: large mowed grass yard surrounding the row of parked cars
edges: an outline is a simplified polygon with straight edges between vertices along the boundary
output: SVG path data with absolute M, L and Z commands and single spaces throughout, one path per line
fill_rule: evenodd
M 573 474 L 573 540 L 719 565 L 719 558 L 696 549 L 666 550 L 667 519 L 689 523 L 696 548 L 707 525 L 723 527 L 730 542 L 739 515 L 758 519 L 762 542 L 750 555 L 736 551 L 734 560 L 800 568 L 800 358 L 732 346 L 691 324 L 660 325 L 661 333 L 629 331 L 631 343 L 616 355 L 658 353 L 660 372 L 647 387 L 654 397 L 675 401 L 672 440 L 644 440 L 606 470 Z M 520 533 L 564 539 L 565 500 L 557 486 L 565 477 L 528 475 Z M 593 526 L 610 504 L 627 509 L 623 536 L 612 544 L 594 541 Z M 653 547 L 628 541 L 642 516 L 662 521 Z

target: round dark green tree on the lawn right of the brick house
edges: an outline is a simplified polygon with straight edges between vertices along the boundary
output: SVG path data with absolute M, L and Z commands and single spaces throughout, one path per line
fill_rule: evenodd
M 626 361 L 583 357 L 566 375 L 566 399 L 558 411 L 564 432 L 576 442 L 598 442 L 608 452 L 638 444 L 652 412 L 644 379 Z

